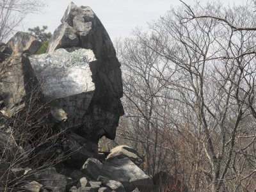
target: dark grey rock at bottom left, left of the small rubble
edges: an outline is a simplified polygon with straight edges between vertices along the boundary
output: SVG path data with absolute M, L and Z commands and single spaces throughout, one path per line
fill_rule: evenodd
M 55 168 L 47 168 L 35 173 L 35 179 L 40 182 L 44 188 L 56 192 L 64 192 L 67 185 L 66 177 L 57 173 Z

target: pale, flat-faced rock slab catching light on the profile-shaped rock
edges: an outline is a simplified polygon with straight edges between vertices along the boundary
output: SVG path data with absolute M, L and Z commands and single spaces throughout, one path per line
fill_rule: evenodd
M 95 56 L 91 49 L 58 49 L 29 56 L 29 60 L 46 97 L 59 99 L 95 90 L 90 70 Z

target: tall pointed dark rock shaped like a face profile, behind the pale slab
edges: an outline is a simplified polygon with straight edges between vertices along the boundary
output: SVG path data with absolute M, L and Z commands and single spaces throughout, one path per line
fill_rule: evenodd
M 77 130 L 81 136 L 86 137 L 90 134 L 91 140 L 96 142 L 103 135 L 114 139 L 118 120 L 121 115 L 124 115 L 124 109 L 120 102 L 122 97 L 120 63 L 116 58 L 109 35 L 88 6 L 77 7 L 76 4 L 70 3 L 61 22 L 62 24 L 54 31 L 49 42 L 48 54 L 54 54 L 61 48 L 67 50 L 80 47 L 79 51 L 88 50 L 87 58 L 85 54 L 82 58 L 86 59 L 83 66 L 89 65 L 90 70 L 84 76 L 85 81 L 88 82 L 87 91 L 84 91 L 84 86 L 81 85 L 79 90 L 72 92 L 76 96 L 64 98 L 61 94 L 70 92 L 61 91 L 57 95 L 61 96 L 58 100 L 59 105 L 70 116 L 68 118 L 70 123 L 81 123 Z M 93 54 L 89 54 L 89 50 Z M 81 68 L 80 65 L 78 67 Z M 77 76 L 81 73 L 79 72 Z M 67 81 L 67 78 L 62 81 Z M 79 94 L 79 92 L 83 93 Z M 73 114 L 74 117 L 72 117 Z

